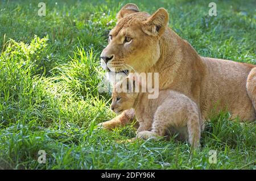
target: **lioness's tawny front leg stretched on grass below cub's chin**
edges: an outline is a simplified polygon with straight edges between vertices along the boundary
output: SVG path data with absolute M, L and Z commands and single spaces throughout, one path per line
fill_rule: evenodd
M 118 127 L 124 127 L 126 124 L 130 124 L 135 117 L 134 109 L 123 111 L 117 117 L 114 117 L 110 121 L 105 121 L 98 125 L 102 126 L 105 129 L 113 129 Z

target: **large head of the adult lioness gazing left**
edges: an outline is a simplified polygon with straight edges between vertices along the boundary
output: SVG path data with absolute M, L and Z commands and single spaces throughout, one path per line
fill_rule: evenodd
M 117 14 L 117 25 L 109 33 L 109 44 L 101 53 L 101 66 L 115 73 L 146 72 L 160 57 L 159 39 L 166 30 L 168 12 L 140 12 L 127 4 Z

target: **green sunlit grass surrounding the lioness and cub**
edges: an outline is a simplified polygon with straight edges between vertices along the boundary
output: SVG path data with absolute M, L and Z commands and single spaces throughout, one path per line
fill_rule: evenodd
M 214 1 L 209 16 L 203 0 L 44 0 L 42 17 L 38 2 L 0 0 L 0 169 L 256 169 L 255 123 L 228 113 L 209 121 L 197 151 L 175 140 L 120 142 L 135 136 L 132 125 L 96 129 L 115 116 L 110 95 L 97 90 L 99 54 L 123 5 L 164 7 L 169 26 L 202 56 L 256 64 L 255 1 Z

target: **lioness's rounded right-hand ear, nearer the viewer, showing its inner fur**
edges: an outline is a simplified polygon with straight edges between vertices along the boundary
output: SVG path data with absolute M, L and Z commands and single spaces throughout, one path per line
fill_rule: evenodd
M 161 36 L 166 29 L 168 20 L 168 12 L 160 8 L 143 23 L 142 30 L 148 35 Z

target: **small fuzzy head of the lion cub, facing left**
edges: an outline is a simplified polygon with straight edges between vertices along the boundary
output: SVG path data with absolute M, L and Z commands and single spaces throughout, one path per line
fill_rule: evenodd
M 114 86 L 110 106 L 112 111 L 119 114 L 134 107 L 135 100 L 139 94 L 135 91 L 136 86 L 135 80 L 128 77 Z

